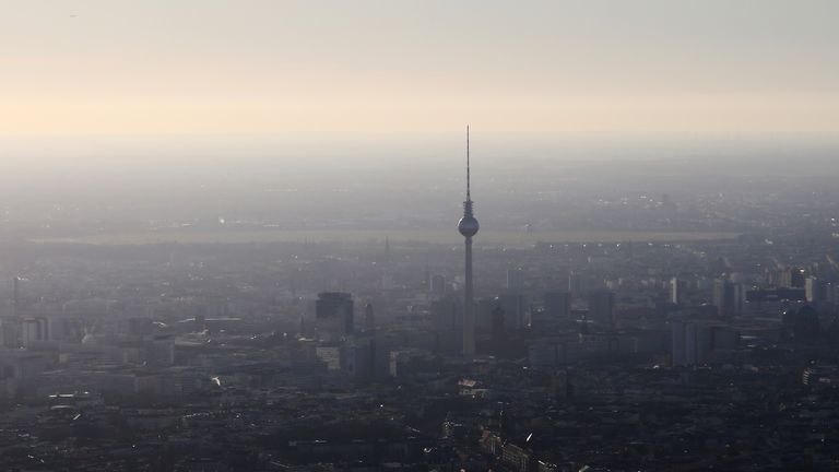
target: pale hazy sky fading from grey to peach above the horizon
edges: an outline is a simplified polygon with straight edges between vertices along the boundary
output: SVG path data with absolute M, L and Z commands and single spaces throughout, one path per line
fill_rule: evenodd
M 836 0 L 0 0 L 0 135 L 839 131 Z

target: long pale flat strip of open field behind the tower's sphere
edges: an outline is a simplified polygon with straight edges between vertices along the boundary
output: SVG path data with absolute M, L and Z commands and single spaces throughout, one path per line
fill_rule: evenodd
M 482 229 L 475 245 L 527 247 L 535 243 L 619 243 L 619 241 L 692 241 L 733 239 L 738 233 L 634 232 L 634 231 L 550 231 L 516 232 Z M 430 243 L 460 244 L 457 229 L 367 231 L 367 229 L 263 229 L 263 231 L 159 231 L 145 233 L 98 234 L 82 237 L 34 239 L 34 243 L 84 245 L 154 245 L 154 244 L 244 244 L 244 243 Z

